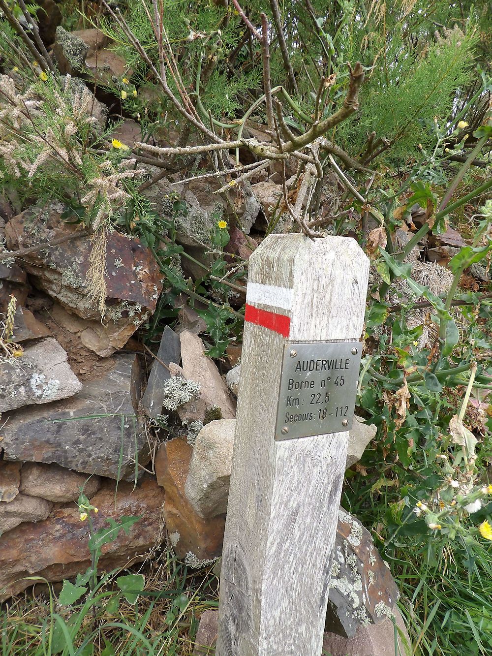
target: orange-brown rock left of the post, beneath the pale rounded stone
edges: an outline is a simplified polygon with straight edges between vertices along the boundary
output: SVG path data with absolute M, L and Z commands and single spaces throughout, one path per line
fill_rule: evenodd
M 179 438 L 165 442 L 155 457 L 157 482 L 165 491 L 164 516 L 169 542 L 178 558 L 193 554 L 197 560 L 220 556 L 226 516 L 204 520 L 186 499 L 184 485 L 192 447 Z

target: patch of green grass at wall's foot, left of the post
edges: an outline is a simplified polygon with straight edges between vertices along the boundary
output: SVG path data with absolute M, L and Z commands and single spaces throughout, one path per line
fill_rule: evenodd
M 135 604 L 115 585 L 121 570 L 94 603 L 86 595 L 74 605 L 60 604 L 59 585 L 33 577 L 35 588 L 0 609 L 2 656 L 190 656 L 199 615 L 218 606 L 211 567 L 190 570 L 164 551 L 131 572 L 145 577 Z

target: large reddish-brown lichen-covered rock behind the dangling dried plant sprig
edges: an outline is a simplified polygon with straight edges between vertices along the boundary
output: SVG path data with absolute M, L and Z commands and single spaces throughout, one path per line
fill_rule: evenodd
M 64 207 L 52 203 L 47 209 L 32 207 L 14 216 L 5 228 L 10 249 L 20 249 L 51 242 L 76 232 L 61 218 Z M 33 230 L 35 228 L 35 230 Z M 24 256 L 24 268 L 38 287 L 83 319 L 100 321 L 100 313 L 87 293 L 85 283 L 92 251 L 89 236 L 41 249 Z M 155 310 L 162 289 L 161 273 L 150 250 L 138 239 L 113 232 L 108 234 L 106 249 L 107 300 L 104 333 L 91 338 L 87 348 L 97 348 L 98 355 L 110 356 L 121 348 L 134 331 Z M 94 327 L 92 330 L 96 331 Z

